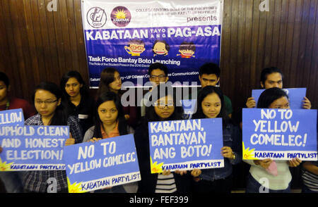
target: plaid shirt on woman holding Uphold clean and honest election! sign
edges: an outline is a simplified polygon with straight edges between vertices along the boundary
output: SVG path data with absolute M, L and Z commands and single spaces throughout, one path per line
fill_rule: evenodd
M 25 125 L 43 125 L 40 114 L 33 115 L 25 120 Z M 78 120 L 74 116 L 69 116 L 67 120 L 69 130 L 75 139 L 75 143 L 83 141 L 83 134 L 78 125 Z M 57 192 L 67 189 L 66 170 L 43 170 L 43 171 L 25 171 L 23 177 L 24 189 L 29 192 L 47 192 L 49 184 L 47 180 L 54 177 L 57 180 Z

